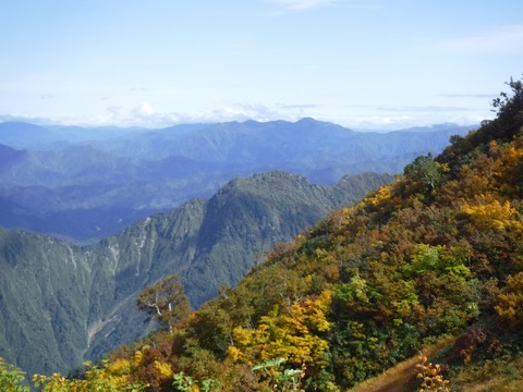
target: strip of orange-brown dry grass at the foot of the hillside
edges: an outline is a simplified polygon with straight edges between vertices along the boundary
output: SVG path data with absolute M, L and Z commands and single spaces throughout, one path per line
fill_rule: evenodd
M 453 341 L 454 338 L 441 340 L 429 347 L 425 347 L 423 354 L 429 358 L 434 357 Z M 409 384 L 412 385 L 412 379 L 417 372 L 417 364 L 419 364 L 419 358 L 416 355 L 408 360 L 399 363 L 384 373 L 357 384 L 349 392 L 402 392 Z

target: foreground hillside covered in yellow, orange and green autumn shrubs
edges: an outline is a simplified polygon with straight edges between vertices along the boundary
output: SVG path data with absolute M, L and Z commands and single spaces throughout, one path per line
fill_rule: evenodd
M 82 380 L 38 382 L 345 391 L 449 336 L 437 360 L 453 391 L 477 379 L 472 366 L 488 382 L 496 364 L 523 363 L 523 86 L 508 84 L 495 120 L 277 246 L 172 329 L 111 353 Z

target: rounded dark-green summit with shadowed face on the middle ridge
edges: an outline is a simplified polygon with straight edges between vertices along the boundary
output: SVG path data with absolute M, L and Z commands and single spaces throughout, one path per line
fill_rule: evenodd
M 256 255 L 291 238 L 332 206 L 357 199 L 343 196 L 336 198 L 332 188 L 283 172 L 233 180 L 207 206 L 194 268 L 187 271 L 194 282 L 188 294 L 204 293 L 197 298 L 200 303 L 212 296 L 209 285 L 234 285 L 251 269 Z

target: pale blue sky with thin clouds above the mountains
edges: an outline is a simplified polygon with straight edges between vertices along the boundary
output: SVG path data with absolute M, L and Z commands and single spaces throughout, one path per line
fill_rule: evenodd
M 0 0 L 0 121 L 477 124 L 521 0 Z

